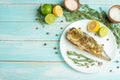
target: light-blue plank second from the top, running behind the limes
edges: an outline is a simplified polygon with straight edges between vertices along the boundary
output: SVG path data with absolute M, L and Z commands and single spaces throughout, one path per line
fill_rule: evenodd
M 99 10 L 102 7 L 108 13 L 112 5 L 90 5 L 91 8 Z M 36 21 L 37 9 L 39 5 L 0 5 L 0 21 Z M 9 13 L 9 14 L 8 14 Z M 63 17 L 60 17 L 63 18 Z M 58 18 L 58 22 L 60 22 Z

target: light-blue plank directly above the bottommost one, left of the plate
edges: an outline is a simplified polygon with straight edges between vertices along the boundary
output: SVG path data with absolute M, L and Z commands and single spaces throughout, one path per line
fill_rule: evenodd
M 0 41 L 1 61 L 63 61 L 59 41 Z

